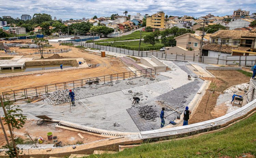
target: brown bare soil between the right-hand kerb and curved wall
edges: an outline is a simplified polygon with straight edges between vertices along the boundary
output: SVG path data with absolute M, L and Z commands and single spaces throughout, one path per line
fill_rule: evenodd
M 209 70 L 216 78 L 204 77 L 216 84 L 215 92 L 207 90 L 202 97 L 194 115 L 189 119 L 189 124 L 211 120 L 226 114 L 227 107 L 224 104 L 216 106 L 217 98 L 227 88 L 250 81 L 251 77 L 238 71 Z

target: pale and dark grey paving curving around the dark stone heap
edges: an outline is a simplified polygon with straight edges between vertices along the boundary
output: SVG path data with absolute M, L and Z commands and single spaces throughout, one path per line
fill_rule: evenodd
M 185 107 L 193 100 L 203 81 L 197 78 L 197 75 L 186 67 L 186 65 L 189 65 L 187 62 L 161 61 L 171 67 L 172 71 L 161 72 L 159 74 L 170 77 L 170 79 L 147 86 L 146 89 L 143 89 L 144 87 L 136 87 L 133 90 L 135 89 L 135 92 L 143 92 L 143 96 L 139 96 L 139 98 L 142 97 L 141 99 L 143 99 L 140 106 L 152 105 L 154 109 L 158 110 L 159 116 L 162 107 L 168 108 L 165 105 L 179 112 L 183 112 Z M 188 74 L 194 76 L 190 81 L 187 80 Z M 147 99 L 145 99 L 145 96 L 148 96 Z M 159 101 L 163 101 L 164 103 L 159 104 Z M 139 115 L 139 108 L 137 105 L 136 107 L 127 109 L 127 111 L 140 131 L 160 128 L 160 117 L 156 118 L 156 122 L 145 120 Z M 172 114 L 165 119 L 166 125 L 170 121 L 173 121 L 177 115 L 180 115 L 174 111 L 165 111 L 165 116 L 170 113 Z

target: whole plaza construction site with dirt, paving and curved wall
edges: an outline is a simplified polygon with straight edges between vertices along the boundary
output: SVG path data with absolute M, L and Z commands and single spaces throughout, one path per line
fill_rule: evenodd
M 0 92 L 3 102 L 19 106 L 27 116 L 24 126 L 13 131 L 22 140 L 17 146 L 23 158 L 118 153 L 145 142 L 224 129 L 256 110 L 250 67 L 165 59 L 154 53 L 139 57 L 55 40 L 43 59 L 30 40 L 4 46 L 8 52 L 0 51 Z M 183 126 L 186 107 L 191 114 Z M 0 115 L 5 115 L 2 109 Z M 5 144 L 0 130 L 0 145 Z M 0 157 L 8 157 L 7 150 L 0 148 Z

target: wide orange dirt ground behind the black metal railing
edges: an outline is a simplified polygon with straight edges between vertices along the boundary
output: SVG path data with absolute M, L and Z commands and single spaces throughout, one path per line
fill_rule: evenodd
M 55 48 L 66 48 L 68 46 L 59 46 L 58 44 Z M 54 48 L 54 49 L 55 49 Z M 24 50 L 21 49 L 25 54 Z M 0 55 L 5 55 L 5 53 L 0 53 Z M 18 54 L 19 55 L 19 54 Z M 47 58 L 53 54 L 44 54 L 44 57 Z M 24 75 L 24 76 L 13 76 L 13 77 L 4 77 L 0 78 L 0 92 L 18 90 L 23 88 L 43 86 L 53 83 L 61 83 L 73 80 L 81 80 L 89 77 L 97 77 L 115 73 L 122 73 L 130 71 L 122 62 L 120 62 L 117 57 L 100 57 L 99 55 L 91 54 L 85 51 L 80 51 L 79 48 L 72 47 L 72 50 L 66 53 L 60 53 L 60 56 L 65 58 L 84 58 L 87 64 L 99 64 L 95 68 L 84 68 L 84 69 L 75 69 L 68 71 L 57 71 L 57 72 L 48 72 L 43 73 L 43 75 Z M 24 57 L 29 57 L 33 59 L 40 59 L 40 54 L 25 54 Z

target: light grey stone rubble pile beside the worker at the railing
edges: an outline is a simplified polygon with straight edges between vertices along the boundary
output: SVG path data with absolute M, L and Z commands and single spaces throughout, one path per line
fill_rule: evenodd
M 80 88 L 77 87 L 73 89 L 73 92 L 75 93 L 79 90 Z M 45 96 L 49 97 L 54 102 L 54 105 L 70 102 L 69 90 L 56 90 L 55 92 L 46 94 Z

